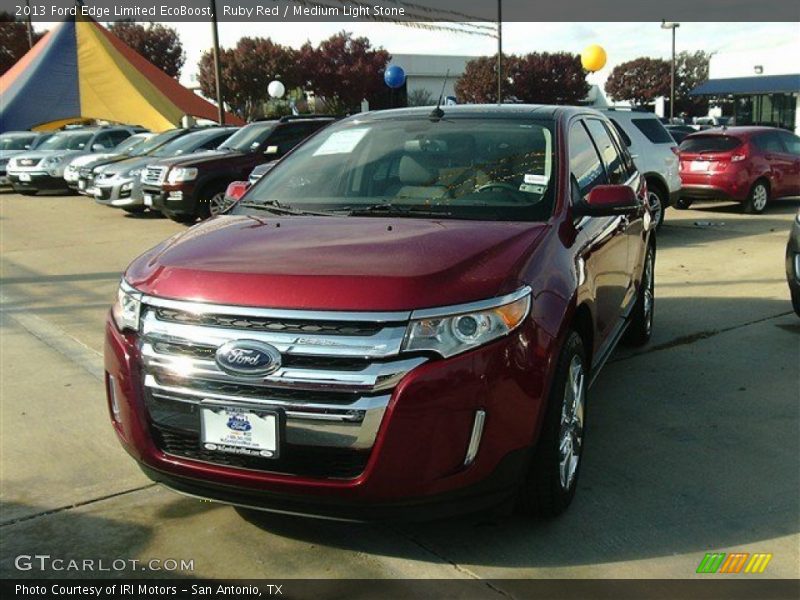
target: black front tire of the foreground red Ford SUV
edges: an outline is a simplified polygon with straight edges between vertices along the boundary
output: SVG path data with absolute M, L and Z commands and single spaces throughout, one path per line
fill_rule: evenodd
M 573 422 L 574 429 L 562 429 L 562 421 L 565 418 L 565 410 L 568 410 L 571 398 L 574 398 L 573 385 L 570 379 L 574 377 L 574 363 L 580 365 L 580 422 Z M 580 474 L 581 456 L 583 454 L 583 440 L 585 433 L 585 414 L 586 414 L 586 386 L 589 381 L 586 350 L 583 339 L 575 331 L 569 331 L 561 354 L 556 365 L 555 379 L 550 390 L 547 403 L 547 413 L 545 414 L 542 431 L 536 450 L 531 459 L 531 464 L 522 486 L 517 496 L 516 511 L 528 516 L 538 516 L 552 518 L 564 512 L 575 496 L 575 489 L 578 485 L 578 475 Z M 568 392 L 569 390 L 569 392 Z M 577 411 L 574 411 L 577 413 Z M 575 435 L 579 434 L 576 438 Z M 562 477 L 564 465 L 570 465 L 571 459 L 562 464 L 566 453 L 562 456 L 562 438 L 571 439 L 568 443 L 570 449 L 574 450 L 577 445 L 577 457 L 574 463 L 571 477 Z M 570 454 L 570 457 L 573 455 Z M 564 483 L 566 479 L 566 484 Z

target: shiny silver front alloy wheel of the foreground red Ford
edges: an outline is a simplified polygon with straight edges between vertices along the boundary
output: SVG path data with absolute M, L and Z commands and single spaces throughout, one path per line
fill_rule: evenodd
M 583 445 L 583 421 L 585 376 L 580 356 L 573 356 L 564 386 L 564 401 L 561 405 L 561 427 L 559 429 L 558 473 L 561 489 L 569 490 L 575 482 Z

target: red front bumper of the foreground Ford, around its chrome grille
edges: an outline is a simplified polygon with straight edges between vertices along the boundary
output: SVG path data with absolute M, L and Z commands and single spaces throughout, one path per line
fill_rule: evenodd
M 547 361 L 533 357 L 546 352 L 542 344 L 554 341 L 541 331 L 534 335 L 532 329 L 527 321 L 507 338 L 429 361 L 406 374 L 391 391 L 374 443 L 361 453 L 362 462 L 338 476 L 287 469 L 286 464 L 300 464 L 300 455 L 308 450 L 301 445 L 281 449 L 281 459 L 288 462 L 280 472 L 269 459 L 254 468 L 165 452 L 163 432 L 154 427 L 148 408 L 152 404 L 143 385 L 138 337 L 121 334 L 110 320 L 105 369 L 117 416 L 110 400 L 109 409 L 126 450 L 152 479 L 180 492 L 266 510 L 359 520 L 430 504 L 449 505 L 446 512 L 474 510 L 514 493 L 538 435 Z M 537 341 L 535 350 L 530 340 Z M 479 410 L 486 413 L 483 436 L 474 462 L 464 466 Z M 287 428 L 292 425 L 291 416 L 286 423 Z M 318 435 L 324 440 L 325 431 L 318 430 Z M 193 443 L 200 446 L 197 438 Z M 298 461 L 293 462 L 292 452 Z M 321 461 L 338 451 L 326 452 L 319 454 Z

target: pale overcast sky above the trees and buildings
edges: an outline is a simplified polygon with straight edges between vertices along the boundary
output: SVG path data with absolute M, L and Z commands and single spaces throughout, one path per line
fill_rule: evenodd
M 43 24 L 52 26 L 52 23 Z M 175 27 L 186 49 L 181 82 L 193 86 L 197 62 L 211 46 L 207 23 L 167 23 Z M 503 51 L 525 54 L 534 51 L 580 53 L 589 44 L 600 44 L 608 63 L 589 76 L 602 84 L 615 65 L 638 56 L 669 58 L 670 34 L 659 23 L 503 23 Z M 446 54 L 481 56 L 494 54 L 492 38 L 443 31 L 425 31 L 392 23 L 220 23 L 220 44 L 233 46 L 243 36 L 262 36 L 295 48 L 307 40 L 313 44 L 345 29 L 367 36 L 374 46 L 393 54 Z M 707 52 L 749 50 L 800 43 L 800 23 L 681 23 L 677 51 Z M 402 65 L 401 65 L 402 66 Z

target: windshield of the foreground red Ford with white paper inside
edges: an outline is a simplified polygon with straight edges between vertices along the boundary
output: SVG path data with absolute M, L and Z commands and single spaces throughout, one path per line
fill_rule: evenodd
M 553 125 L 496 119 L 342 123 L 261 179 L 248 206 L 540 221 L 552 213 Z

